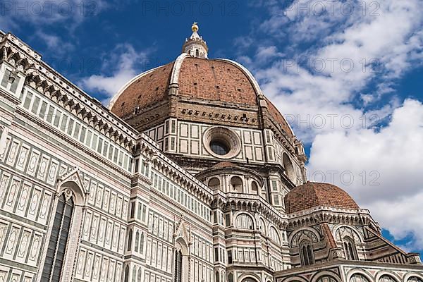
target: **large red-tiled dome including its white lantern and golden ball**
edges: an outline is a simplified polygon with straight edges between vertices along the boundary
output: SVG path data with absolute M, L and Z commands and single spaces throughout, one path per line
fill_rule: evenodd
M 265 123 L 262 119 L 268 117 L 269 123 L 274 123 L 283 135 L 294 140 L 290 125 L 264 97 L 250 71 L 235 61 L 208 59 L 208 48 L 197 33 L 197 25 L 192 28 L 193 34 L 185 41 L 183 53 L 176 61 L 130 80 L 111 99 L 109 109 L 141 131 L 147 124 L 150 126 L 164 118 L 184 119 L 181 116 L 191 109 L 199 110 L 187 117 L 190 121 L 202 118 L 201 121 L 207 123 L 219 120 L 219 124 L 226 122 L 226 125 L 250 128 L 259 128 Z M 172 97 L 176 97 L 175 102 L 171 101 Z M 197 105 L 215 107 L 204 110 Z M 266 107 L 266 115 L 262 114 L 262 107 Z

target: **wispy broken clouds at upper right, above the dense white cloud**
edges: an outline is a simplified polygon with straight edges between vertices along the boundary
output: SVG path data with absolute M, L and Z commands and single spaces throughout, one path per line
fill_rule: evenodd
M 300 0 L 294 4 L 300 5 L 299 2 L 316 1 Z M 328 115 L 352 116 L 355 126 L 351 129 L 362 127 L 362 116 L 367 113 L 364 109 L 357 109 L 357 104 L 364 102 L 363 106 L 368 106 L 392 92 L 392 80 L 408 71 L 415 63 L 415 57 L 422 52 L 423 32 L 419 29 L 422 14 L 418 0 L 384 1 L 377 13 L 379 16 L 372 16 L 369 12 L 364 15 L 354 13 L 347 18 L 348 25 L 341 24 L 331 35 L 322 37 L 317 47 L 294 54 L 293 59 L 279 60 L 263 68 L 259 58 L 262 47 L 259 47 L 255 59 L 250 60 L 264 93 L 274 100 L 283 114 L 296 118 L 293 127 L 306 142 L 311 142 L 314 135 L 325 130 L 345 130 L 342 121 L 332 124 Z M 325 27 L 328 19 L 327 15 L 314 16 L 313 13 L 298 16 L 293 8 L 287 15 L 296 19 L 290 26 L 290 37 L 297 37 L 296 30 L 302 25 L 307 25 L 307 29 L 319 23 Z M 333 14 L 333 18 L 341 23 L 345 22 L 344 17 Z M 305 24 L 311 18 L 313 24 Z M 280 54 L 277 49 L 272 51 Z M 300 58 L 305 58 L 305 63 Z M 379 84 L 376 90 L 362 93 L 375 79 Z M 389 103 L 393 104 L 393 101 Z M 388 111 L 380 113 L 390 114 Z M 300 120 L 312 121 L 319 115 L 326 116 L 323 128 L 296 126 L 300 125 Z M 379 116 L 379 119 L 385 117 Z

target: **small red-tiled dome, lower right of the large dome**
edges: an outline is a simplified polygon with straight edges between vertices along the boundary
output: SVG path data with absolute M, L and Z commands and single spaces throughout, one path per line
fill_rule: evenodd
M 353 198 L 338 186 L 317 182 L 307 182 L 290 190 L 285 196 L 285 207 L 288 214 L 312 207 L 360 208 Z

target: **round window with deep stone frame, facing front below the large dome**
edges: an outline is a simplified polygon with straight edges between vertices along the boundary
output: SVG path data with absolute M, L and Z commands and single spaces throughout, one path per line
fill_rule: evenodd
M 238 135 L 222 126 L 209 128 L 204 133 L 203 144 L 207 152 L 219 159 L 231 159 L 240 152 L 240 138 Z

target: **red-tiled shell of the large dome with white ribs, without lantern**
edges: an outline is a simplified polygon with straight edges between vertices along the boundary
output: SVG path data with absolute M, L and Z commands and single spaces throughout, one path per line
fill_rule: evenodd
M 176 61 L 159 66 L 130 80 L 109 104 L 109 109 L 126 119 L 135 109 L 145 111 L 169 101 L 169 91 L 204 102 L 224 102 L 232 106 L 256 107 L 262 90 L 247 68 L 227 59 L 202 59 L 181 54 Z M 263 95 L 264 96 L 264 95 Z M 266 99 L 269 114 L 289 137 L 294 134 L 286 119 Z

